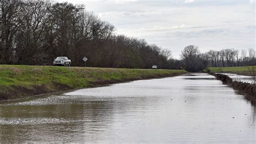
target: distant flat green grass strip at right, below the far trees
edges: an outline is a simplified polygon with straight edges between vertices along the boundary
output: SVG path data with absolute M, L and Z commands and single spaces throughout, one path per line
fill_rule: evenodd
M 253 67 L 253 66 L 240 66 L 240 67 L 209 67 L 208 70 L 212 73 L 235 73 L 235 74 L 240 74 L 244 76 L 252 76 L 250 71 L 248 70 L 248 67 Z

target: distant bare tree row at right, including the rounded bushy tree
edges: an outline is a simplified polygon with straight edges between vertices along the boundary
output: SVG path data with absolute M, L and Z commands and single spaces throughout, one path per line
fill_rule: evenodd
M 198 46 L 189 45 L 180 53 L 181 60 L 173 60 L 175 65 L 183 66 L 187 71 L 197 72 L 206 67 L 233 67 L 256 65 L 255 49 L 246 50 L 223 49 L 200 53 Z M 177 67 L 174 67 L 177 68 Z

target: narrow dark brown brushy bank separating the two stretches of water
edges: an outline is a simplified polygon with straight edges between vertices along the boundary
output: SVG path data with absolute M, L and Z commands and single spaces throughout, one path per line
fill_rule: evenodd
M 240 93 L 244 94 L 248 100 L 253 102 L 256 101 L 256 86 L 255 84 L 244 83 L 241 81 L 233 81 L 230 77 L 225 74 L 210 73 L 215 76 L 218 80 L 223 81 L 224 84 L 230 85 L 234 90 L 238 90 Z

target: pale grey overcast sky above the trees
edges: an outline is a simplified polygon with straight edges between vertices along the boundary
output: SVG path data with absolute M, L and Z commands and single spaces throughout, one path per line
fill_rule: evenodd
M 57 2 L 62 2 L 59 0 Z M 116 33 L 171 49 L 255 49 L 255 0 L 69 0 L 85 4 Z

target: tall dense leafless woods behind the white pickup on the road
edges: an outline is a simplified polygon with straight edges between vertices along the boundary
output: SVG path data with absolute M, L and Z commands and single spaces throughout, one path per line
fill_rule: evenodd
M 1 1 L 0 64 L 51 65 L 67 56 L 72 66 L 170 68 L 170 50 L 114 33 L 84 5 Z

